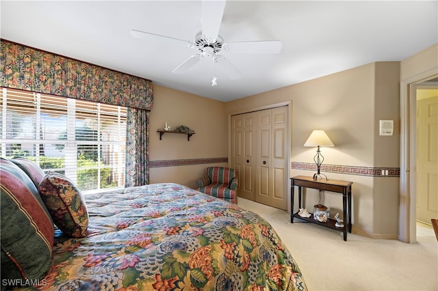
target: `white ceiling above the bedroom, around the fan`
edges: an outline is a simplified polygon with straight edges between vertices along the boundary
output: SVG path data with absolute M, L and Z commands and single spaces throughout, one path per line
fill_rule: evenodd
M 229 0 L 224 42 L 281 40 L 275 55 L 224 55 L 243 76 L 203 59 L 172 70 L 195 48 L 133 38 L 138 29 L 181 40 L 201 31 L 201 1 L 5 1 L 1 38 L 222 101 L 285 87 L 373 61 L 400 61 L 438 42 L 438 1 Z

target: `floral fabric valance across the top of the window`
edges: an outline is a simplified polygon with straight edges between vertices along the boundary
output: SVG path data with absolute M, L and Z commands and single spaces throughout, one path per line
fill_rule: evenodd
M 1 40 L 0 86 L 151 110 L 152 82 Z

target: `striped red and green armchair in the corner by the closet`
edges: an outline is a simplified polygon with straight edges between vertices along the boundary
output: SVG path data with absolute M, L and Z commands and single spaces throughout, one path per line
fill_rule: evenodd
M 237 204 L 237 170 L 207 167 L 207 175 L 196 183 L 198 191 Z

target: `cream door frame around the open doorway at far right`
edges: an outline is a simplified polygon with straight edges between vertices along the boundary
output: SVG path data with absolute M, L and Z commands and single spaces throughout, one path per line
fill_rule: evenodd
M 400 207 L 398 239 L 417 241 L 417 167 L 416 167 L 416 89 L 417 85 L 437 77 L 437 69 L 427 70 L 400 81 Z

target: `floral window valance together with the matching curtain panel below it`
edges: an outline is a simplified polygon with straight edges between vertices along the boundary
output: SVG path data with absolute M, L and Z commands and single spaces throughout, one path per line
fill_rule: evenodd
M 125 186 L 148 184 L 151 81 L 8 40 L 0 47 L 1 87 L 129 107 Z

